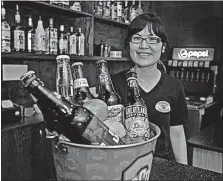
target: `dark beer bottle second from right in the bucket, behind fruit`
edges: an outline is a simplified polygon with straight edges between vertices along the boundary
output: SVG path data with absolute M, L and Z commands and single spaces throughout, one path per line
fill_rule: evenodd
M 116 93 L 113 83 L 108 71 L 107 62 L 105 60 L 98 60 L 97 65 L 97 79 L 98 79 L 98 98 L 105 101 L 108 106 L 108 118 L 116 121 L 122 121 L 123 105 L 121 98 Z

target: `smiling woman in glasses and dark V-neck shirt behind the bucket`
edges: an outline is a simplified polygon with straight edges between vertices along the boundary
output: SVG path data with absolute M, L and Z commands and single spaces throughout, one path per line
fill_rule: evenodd
M 154 13 L 141 14 L 128 28 L 126 45 L 134 62 L 133 70 L 142 98 L 146 102 L 149 121 L 161 129 L 155 155 L 187 164 L 187 148 L 183 125 L 188 119 L 181 83 L 157 68 L 168 45 L 164 24 Z M 118 94 L 126 96 L 127 70 L 113 75 Z M 124 103 L 124 99 L 122 100 Z

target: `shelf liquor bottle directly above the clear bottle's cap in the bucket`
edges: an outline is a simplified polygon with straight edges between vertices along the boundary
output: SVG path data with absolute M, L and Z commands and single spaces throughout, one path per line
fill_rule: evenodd
M 64 25 L 60 25 L 60 32 L 59 32 L 59 54 L 67 54 L 68 53 L 68 43 L 67 43 L 67 35 L 64 31 Z

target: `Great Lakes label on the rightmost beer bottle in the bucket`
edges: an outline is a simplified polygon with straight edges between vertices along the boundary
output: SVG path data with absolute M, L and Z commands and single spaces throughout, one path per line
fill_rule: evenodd
M 149 138 L 149 120 L 147 108 L 141 105 L 131 105 L 124 108 L 123 125 L 127 136 L 132 138 Z

